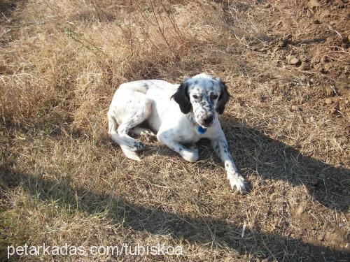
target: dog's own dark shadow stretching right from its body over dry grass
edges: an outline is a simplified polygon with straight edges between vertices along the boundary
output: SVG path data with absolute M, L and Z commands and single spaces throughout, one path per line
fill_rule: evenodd
M 232 157 L 242 175 L 253 171 L 265 179 L 285 180 L 294 185 L 304 184 L 309 194 L 326 208 L 343 212 L 349 210 L 348 168 L 332 166 L 307 157 L 295 148 L 269 138 L 251 126 L 239 123 L 237 119 L 223 118 L 221 125 Z M 214 155 L 208 140 L 200 140 L 197 145 L 200 148 L 200 160 L 214 159 L 218 165 L 222 165 L 220 159 Z M 178 156 L 165 145 L 151 146 L 140 155 L 147 157 L 152 154 Z

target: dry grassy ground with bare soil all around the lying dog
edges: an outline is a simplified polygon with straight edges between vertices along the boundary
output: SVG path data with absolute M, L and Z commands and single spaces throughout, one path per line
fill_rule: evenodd
M 350 3 L 0 0 L 0 258 L 8 246 L 180 246 L 181 256 L 11 261 L 348 261 Z M 188 163 L 107 135 L 127 81 L 207 72 L 250 184 L 207 141 Z M 163 250 L 164 251 L 164 250 Z

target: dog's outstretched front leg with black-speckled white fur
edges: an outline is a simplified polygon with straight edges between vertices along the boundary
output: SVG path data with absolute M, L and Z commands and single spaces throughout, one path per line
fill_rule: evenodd
M 222 133 L 218 138 L 212 139 L 211 146 L 214 148 L 217 156 L 220 157 L 221 161 L 223 161 L 223 164 L 225 165 L 225 170 L 232 190 L 237 190 L 241 194 L 246 192 L 246 181 L 241 175 L 239 175 L 235 162 L 232 160 L 225 135 Z

